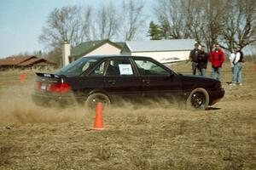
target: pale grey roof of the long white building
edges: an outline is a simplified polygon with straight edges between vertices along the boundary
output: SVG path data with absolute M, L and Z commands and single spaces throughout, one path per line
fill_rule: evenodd
M 123 50 L 130 52 L 183 51 L 194 48 L 194 39 L 127 41 Z

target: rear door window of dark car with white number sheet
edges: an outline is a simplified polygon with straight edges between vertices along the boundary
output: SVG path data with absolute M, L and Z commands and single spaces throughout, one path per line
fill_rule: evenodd
M 106 76 L 134 76 L 129 59 L 110 59 Z

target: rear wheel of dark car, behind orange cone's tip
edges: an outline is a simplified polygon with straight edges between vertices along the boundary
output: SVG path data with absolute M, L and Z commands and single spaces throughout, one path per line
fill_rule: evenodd
M 110 106 L 110 99 L 106 94 L 96 93 L 88 96 L 85 101 L 85 107 L 95 109 L 98 102 L 102 103 L 102 109 L 106 109 Z

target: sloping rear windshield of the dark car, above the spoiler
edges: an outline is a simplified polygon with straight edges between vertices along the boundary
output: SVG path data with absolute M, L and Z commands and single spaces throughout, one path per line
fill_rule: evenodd
M 98 59 L 96 58 L 84 57 L 64 66 L 60 70 L 56 71 L 55 74 L 64 75 L 66 77 L 77 77 L 95 65 L 97 60 Z

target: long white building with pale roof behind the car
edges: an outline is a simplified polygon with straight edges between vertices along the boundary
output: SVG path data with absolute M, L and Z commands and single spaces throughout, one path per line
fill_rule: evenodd
M 171 63 L 189 59 L 194 44 L 193 39 L 127 41 L 120 54 L 148 56 L 160 63 Z

